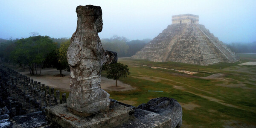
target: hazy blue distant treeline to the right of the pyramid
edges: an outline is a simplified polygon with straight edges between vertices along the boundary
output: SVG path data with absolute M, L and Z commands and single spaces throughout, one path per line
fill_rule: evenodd
M 256 53 L 256 41 L 253 43 L 231 43 L 226 44 L 235 53 Z

